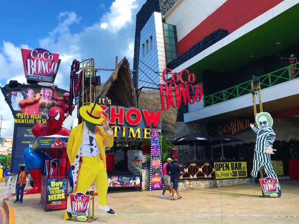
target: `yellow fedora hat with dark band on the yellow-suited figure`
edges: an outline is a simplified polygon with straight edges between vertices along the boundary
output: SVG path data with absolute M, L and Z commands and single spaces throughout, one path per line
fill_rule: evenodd
M 89 106 L 82 106 L 79 109 L 80 115 L 84 120 L 87 120 L 93 124 L 101 125 L 105 120 L 105 117 L 102 114 L 103 109 L 97 103 L 91 103 Z

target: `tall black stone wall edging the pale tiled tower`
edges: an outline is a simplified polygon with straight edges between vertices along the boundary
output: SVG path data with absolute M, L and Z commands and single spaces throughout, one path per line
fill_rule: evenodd
M 140 45 L 140 41 L 137 43 L 137 38 L 140 38 L 140 32 L 144 25 L 146 24 L 147 20 L 152 13 L 158 12 L 164 16 L 174 4 L 176 4 L 178 0 L 147 0 L 139 12 L 136 15 L 136 27 L 135 27 L 135 45 L 134 45 L 134 62 L 133 62 L 133 70 L 136 70 L 136 51 L 137 46 Z M 162 18 L 161 18 L 162 19 Z M 136 73 L 133 73 L 133 83 L 135 86 L 135 78 Z

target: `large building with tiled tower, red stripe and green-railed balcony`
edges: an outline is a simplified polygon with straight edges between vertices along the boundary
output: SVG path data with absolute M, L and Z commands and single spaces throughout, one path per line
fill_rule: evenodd
M 173 72 L 187 69 L 196 75 L 196 83 L 202 83 L 204 95 L 200 102 L 183 110 L 183 121 L 205 124 L 214 134 L 238 134 L 243 128 L 238 123 L 235 127 L 234 121 L 249 119 L 254 123 L 251 82 L 253 76 L 257 76 L 263 110 L 271 113 L 280 127 L 286 119 L 288 123 L 297 123 L 299 41 L 295 27 L 299 25 L 298 0 L 179 0 L 168 1 L 164 10 L 161 4 L 162 1 L 146 1 L 136 17 L 135 42 L 140 42 L 139 61 L 135 45 L 134 69 L 151 68 L 143 76 L 139 70 L 144 82 L 139 85 L 139 81 L 138 88 L 153 86 L 147 82 L 163 83 L 159 75 L 166 67 Z M 148 16 L 141 19 L 145 12 Z M 147 33 L 150 21 L 155 22 L 152 26 L 155 29 Z M 151 35 L 161 42 L 145 58 L 143 53 Z M 256 101 L 259 102 L 257 95 Z M 220 127 L 226 124 L 230 129 L 236 128 L 237 133 L 222 133 Z M 247 139 L 254 141 L 251 137 Z M 297 139 L 295 132 L 277 135 L 280 142 L 296 142 Z M 280 147 L 284 143 L 279 144 Z M 278 157 L 276 159 L 281 159 L 283 155 Z

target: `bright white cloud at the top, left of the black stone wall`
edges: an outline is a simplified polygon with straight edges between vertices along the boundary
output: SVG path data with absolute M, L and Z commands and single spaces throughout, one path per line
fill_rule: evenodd
M 126 24 L 132 22 L 132 10 L 138 7 L 136 0 L 115 0 L 110 6 L 110 11 L 106 13 L 101 21 L 101 28 L 110 30 L 113 33 L 118 32 Z

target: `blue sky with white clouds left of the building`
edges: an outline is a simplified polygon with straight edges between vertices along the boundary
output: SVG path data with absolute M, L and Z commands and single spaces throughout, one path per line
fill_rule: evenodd
M 136 13 L 146 0 L 3 1 L 0 31 L 0 85 L 26 82 L 20 48 L 45 48 L 62 59 L 55 84 L 68 89 L 73 59 L 94 58 L 96 67 L 114 68 L 115 56 L 133 67 Z M 88 3 L 88 4 L 87 4 Z M 18 5 L 16 7 L 16 4 Z M 111 73 L 101 72 L 105 82 Z M 13 135 L 13 116 L 0 95 L 1 136 Z

